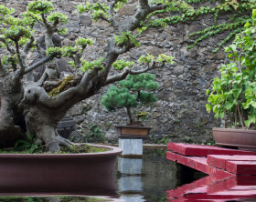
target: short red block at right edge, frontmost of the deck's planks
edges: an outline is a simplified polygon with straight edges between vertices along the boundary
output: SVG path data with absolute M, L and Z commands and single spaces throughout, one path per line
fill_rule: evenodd
M 235 175 L 256 175 L 256 161 L 227 161 L 226 170 Z

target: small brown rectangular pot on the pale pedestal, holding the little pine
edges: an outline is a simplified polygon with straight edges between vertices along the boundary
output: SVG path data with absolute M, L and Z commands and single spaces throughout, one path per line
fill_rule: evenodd
M 119 137 L 146 138 L 152 127 L 146 126 L 115 126 Z

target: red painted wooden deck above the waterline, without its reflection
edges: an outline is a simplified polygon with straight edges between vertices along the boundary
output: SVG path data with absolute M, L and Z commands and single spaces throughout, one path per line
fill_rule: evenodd
M 167 150 L 167 159 L 208 175 L 256 175 L 256 152 L 182 143 L 169 143 Z

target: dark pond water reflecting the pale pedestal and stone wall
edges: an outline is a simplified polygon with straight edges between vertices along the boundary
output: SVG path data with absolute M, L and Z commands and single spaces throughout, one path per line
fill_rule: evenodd
M 166 191 L 174 189 L 184 183 L 178 177 L 176 163 L 166 159 L 166 148 L 144 148 L 141 158 L 118 157 L 114 173 L 116 183 L 116 196 L 113 201 L 123 202 L 164 202 Z M 40 196 L 48 193 L 40 194 Z M 92 200 L 88 197 L 0 197 L 0 201 L 25 201 L 25 202 L 68 202 L 68 201 L 102 201 Z

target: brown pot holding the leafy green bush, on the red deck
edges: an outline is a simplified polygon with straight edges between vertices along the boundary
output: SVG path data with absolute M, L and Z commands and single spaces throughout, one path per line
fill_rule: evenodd
M 215 142 L 219 146 L 235 146 L 241 150 L 256 151 L 256 131 L 214 127 Z

